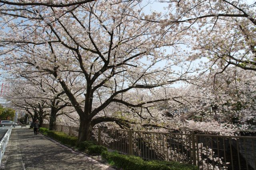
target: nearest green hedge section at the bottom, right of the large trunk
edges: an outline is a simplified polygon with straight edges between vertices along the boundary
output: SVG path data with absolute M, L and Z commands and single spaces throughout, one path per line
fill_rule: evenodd
M 124 170 L 198 170 L 196 166 L 173 161 L 144 161 L 138 156 L 128 156 L 117 152 L 102 152 L 102 158 Z

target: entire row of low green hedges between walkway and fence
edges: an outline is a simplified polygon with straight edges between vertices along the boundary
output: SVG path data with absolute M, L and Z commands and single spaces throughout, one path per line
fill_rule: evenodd
M 77 137 L 68 136 L 64 132 L 48 130 L 47 128 L 40 128 L 40 131 L 70 146 L 76 146 L 78 140 Z M 117 152 L 107 152 L 108 149 L 106 147 L 97 145 L 96 142 L 93 141 L 82 142 L 79 144 L 79 149 L 88 154 L 101 154 L 103 159 L 108 160 L 111 164 L 114 164 L 118 168 L 122 168 L 124 170 L 198 170 L 196 166 L 190 164 L 158 160 L 144 161 L 138 156 L 122 155 Z

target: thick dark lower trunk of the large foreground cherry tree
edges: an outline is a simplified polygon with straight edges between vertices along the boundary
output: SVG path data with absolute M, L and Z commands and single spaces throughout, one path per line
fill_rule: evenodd
M 77 141 L 78 145 L 85 140 L 91 139 L 91 131 L 92 131 L 91 123 L 92 123 L 92 120 L 80 118 L 79 134 L 78 134 L 78 141 Z

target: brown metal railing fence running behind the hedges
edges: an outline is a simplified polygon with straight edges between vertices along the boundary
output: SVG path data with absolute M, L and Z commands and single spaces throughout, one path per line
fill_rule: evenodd
M 78 136 L 78 127 L 57 125 L 56 130 Z M 202 170 L 256 170 L 256 137 L 103 128 L 93 128 L 91 136 L 109 151 L 144 160 L 184 162 Z

